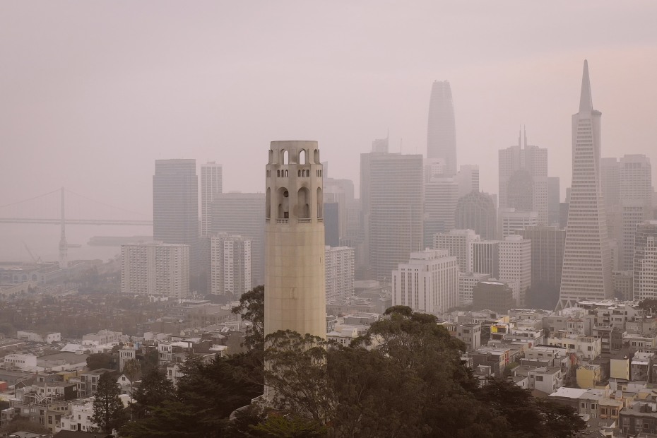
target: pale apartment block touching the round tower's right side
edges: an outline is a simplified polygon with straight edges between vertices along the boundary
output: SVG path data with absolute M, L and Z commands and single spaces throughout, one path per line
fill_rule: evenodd
M 326 302 L 343 301 L 354 295 L 355 249 L 325 247 L 324 275 L 326 276 Z

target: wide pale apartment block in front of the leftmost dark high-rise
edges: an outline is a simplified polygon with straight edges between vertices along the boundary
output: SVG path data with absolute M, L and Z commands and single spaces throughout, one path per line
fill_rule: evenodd
M 189 295 L 189 246 L 123 244 L 121 292 L 186 298 Z

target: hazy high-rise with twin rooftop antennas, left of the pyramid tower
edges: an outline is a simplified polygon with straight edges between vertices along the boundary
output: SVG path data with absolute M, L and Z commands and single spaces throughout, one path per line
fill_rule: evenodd
M 535 211 L 538 223 L 548 225 L 548 150 L 527 144 L 499 150 L 499 207 Z

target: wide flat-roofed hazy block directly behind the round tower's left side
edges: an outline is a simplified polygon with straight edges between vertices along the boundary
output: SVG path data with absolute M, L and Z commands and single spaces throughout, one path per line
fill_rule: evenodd
M 251 239 L 251 285 L 264 284 L 265 195 L 262 193 L 216 194 L 211 208 L 211 232 L 225 232 Z

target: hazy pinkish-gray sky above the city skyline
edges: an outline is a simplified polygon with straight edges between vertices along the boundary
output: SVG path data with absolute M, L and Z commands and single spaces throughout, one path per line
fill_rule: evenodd
M 483 189 L 521 124 L 563 189 L 585 58 L 603 156 L 657 160 L 656 19 L 652 0 L 5 0 L 0 204 L 65 186 L 150 215 L 157 158 L 216 160 L 225 189 L 261 191 L 286 139 L 319 141 L 357 184 L 388 129 L 391 151 L 425 153 L 435 79 Z

